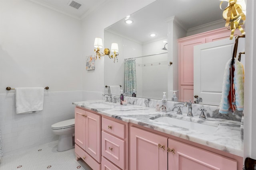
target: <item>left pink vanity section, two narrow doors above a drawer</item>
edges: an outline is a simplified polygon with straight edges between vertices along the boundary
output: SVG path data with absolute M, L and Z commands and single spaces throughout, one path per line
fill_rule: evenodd
M 93 170 L 101 169 L 101 116 L 80 107 L 75 108 L 75 152 Z

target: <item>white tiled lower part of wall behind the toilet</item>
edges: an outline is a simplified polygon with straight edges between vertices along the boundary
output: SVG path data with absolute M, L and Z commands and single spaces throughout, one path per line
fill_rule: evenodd
M 98 93 L 100 96 L 101 93 Z M 93 93 L 82 91 L 45 92 L 44 109 L 39 113 L 16 114 L 15 93 L 0 94 L 0 129 L 3 155 L 13 154 L 58 140 L 51 125 L 74 118 L 72 102 L 90 100 Z

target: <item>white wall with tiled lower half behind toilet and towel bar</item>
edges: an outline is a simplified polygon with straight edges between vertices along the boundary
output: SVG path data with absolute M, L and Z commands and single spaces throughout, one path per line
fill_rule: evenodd
M 82 25 L 26 0 L 0 1 L 0 129 L 4 156 L 57 140 L 51 125 L 82 100 Z M 16 114 L 15 90 L 46 87 L 44 109 Z M 80 91 L 79 91 L 80 90 Z

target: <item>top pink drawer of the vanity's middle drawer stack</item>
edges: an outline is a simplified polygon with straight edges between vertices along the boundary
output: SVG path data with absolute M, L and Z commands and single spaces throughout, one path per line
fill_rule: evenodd
M 112 133 L 122 139 L 125 138 L 125 125 L 102 117 L 102 130 Z

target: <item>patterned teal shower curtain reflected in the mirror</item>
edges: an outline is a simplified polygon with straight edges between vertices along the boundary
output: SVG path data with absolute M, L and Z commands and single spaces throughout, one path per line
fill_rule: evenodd
M 136 62 L 135 59 L 128 59 L 124 61 L 124 92 L 127 96 L 132 96 L 133 89 L 136 92 Z

